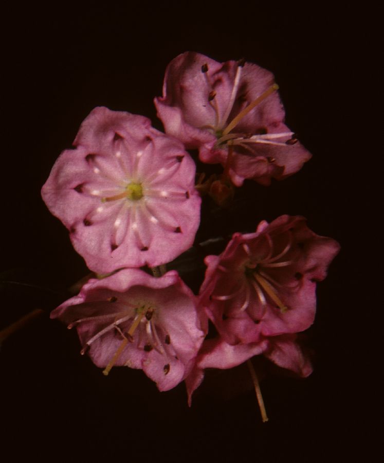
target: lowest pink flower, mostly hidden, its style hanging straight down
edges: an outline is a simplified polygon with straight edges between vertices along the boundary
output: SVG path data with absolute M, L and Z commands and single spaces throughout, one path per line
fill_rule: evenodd
M 204 380 L 206 368 L 228 369 L 241 365 L 255 355 L 264 357 L 276 365 L 295 372 L 303 378 L 312 373 L 312 365 L 295 342 L 296 334 L 284 334 L 264 338 L 258 343 L 227 344 L 221 337 L 206 340 L 200 349 L 193 369 L 186 378 L 188 403 L 192 394 Z

